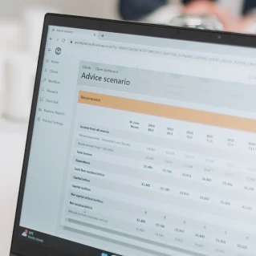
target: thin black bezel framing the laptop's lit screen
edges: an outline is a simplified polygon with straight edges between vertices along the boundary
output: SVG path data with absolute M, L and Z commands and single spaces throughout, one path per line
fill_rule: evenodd
M 201 42 L 201 43 L 216 43 L 219 45 L 230 45 L 238 47 L 256 47 L 256 37 L 254 35 L 242 35 L 227 32 L 211 31 L 211 30 L 194 30 L 173 26 L 161 26 L 136 22 L 121 22 L 115 20 L 106 20 L 100 18 L 85 18 L 77 16 L 69 16 L 63 14 L 46 14 L 43 24 L 43 35 L 41 47 L 39 51 L 38 68 L 35 78 L 35 89 L 33 94 L 30 121 L 26 138 L 26 149 L 22 165 L 22 177 L 20 181 L 18 203 L 14 221 L 14 232 L 12 237 L 10 253 L 15 255 L 74 255 L 73 251 L 81 251 L 85 248 L 83 245 L 78 245 L 75 242 L 70 242 L 62 238 L 52 237 L 55 248 L 43 246 L 39 243 L 30 242 L 20 238 L 20 217 L 22 211 L 22 200 L 26 184 L 26 172 L 30 157 L 30 145 L 35 122 L 35 112 L 39 96 L 39 85 L 43 67 L 43 56 L 47 41 L 47 32 L 49 26 L 64 26 L 72 28 L 80 28 L 87 30 L 101 30 L 106 32 L 115 32 L 128 35 L 144 35 L 161 39 L 179 39 L 185 41 Z M 49 236 L 51 237 L 51 236 Z M 98 250 L 87 247 L 87 255 L 100 255 Z M 84 255 L 84 253 L 83 253 Z

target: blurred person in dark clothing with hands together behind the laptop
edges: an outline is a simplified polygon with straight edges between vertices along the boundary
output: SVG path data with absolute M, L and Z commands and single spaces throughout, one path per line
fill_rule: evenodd
M 225 30 L 256 32 L 256 0 L 120 0 L 127 20 L 169 24 L 174 17 L 215 16 Z

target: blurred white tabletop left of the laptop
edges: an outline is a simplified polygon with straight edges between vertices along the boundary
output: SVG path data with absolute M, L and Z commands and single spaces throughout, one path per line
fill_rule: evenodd
M 0 119 L 0 255 L 9 256 L 27 124 Z

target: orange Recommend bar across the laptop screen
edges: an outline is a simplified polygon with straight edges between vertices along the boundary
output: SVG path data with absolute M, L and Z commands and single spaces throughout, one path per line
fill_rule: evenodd
M 221 128 L 230 128 L 245 132 L 256 132 L 256 120 L 189 108 L 179 108 L 165 104 L 156 104 L 142 100 L 132 100 L 111 95 L 79 91 L 79 103 L 124 110 L 127 112 L 136 112 L 150 116 L 160 116 L 197 124 L 212 125 Z

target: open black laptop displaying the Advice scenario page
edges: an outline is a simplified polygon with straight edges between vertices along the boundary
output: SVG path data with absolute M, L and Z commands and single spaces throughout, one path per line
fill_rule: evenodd
M 256 255 L 255 47 L 47 14 L 10 255 Z

